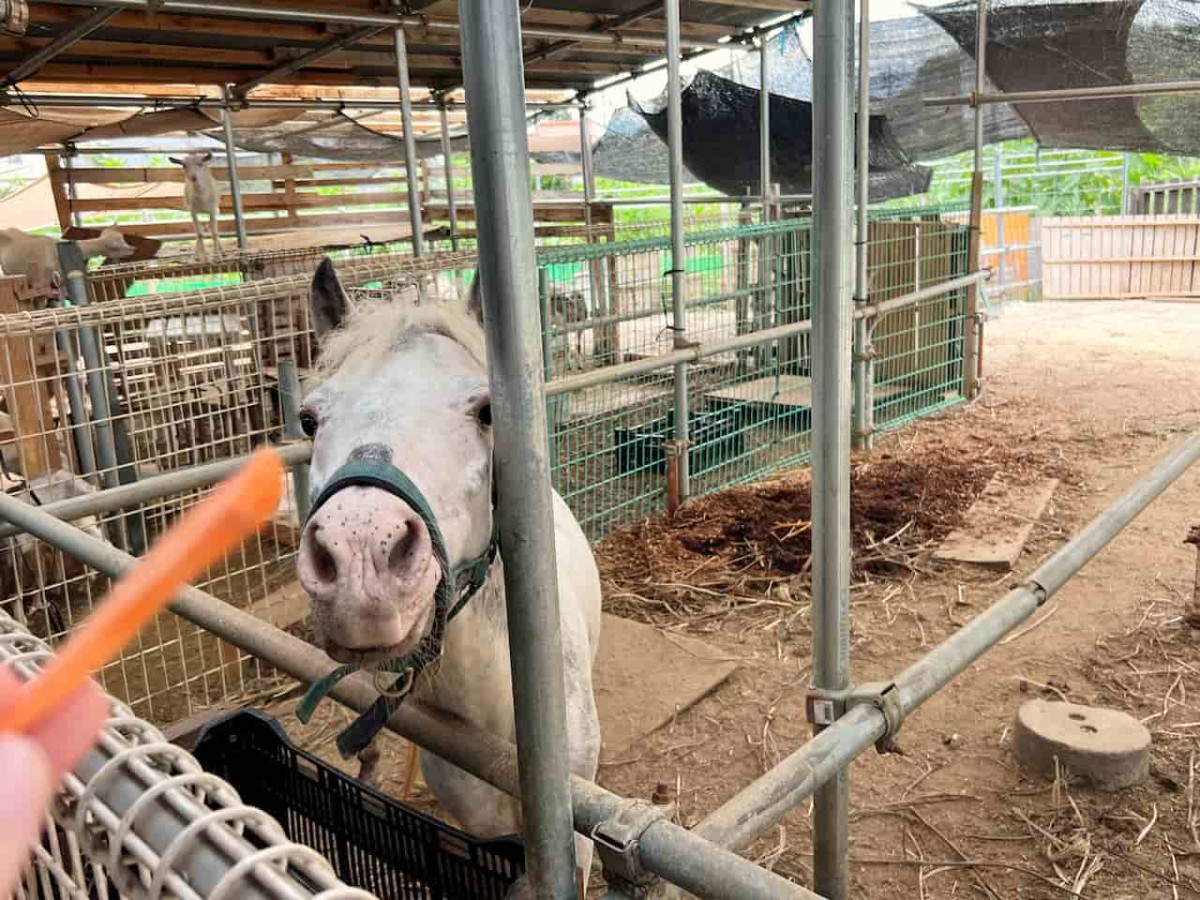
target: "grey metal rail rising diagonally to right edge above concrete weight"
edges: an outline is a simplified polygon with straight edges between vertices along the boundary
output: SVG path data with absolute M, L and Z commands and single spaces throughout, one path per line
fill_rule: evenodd
M 1176 479 L 1200 460 L 1200 433 L 1127 491 L 1025 582 L 896 676 L 904 715 L 932 697 L 1004 635 L 1025 622 L 1099 553 Z M 852 708 L 779 766 L 710 812 L 695 829 L 730 848 L 749 845 L 808 799 L 838 769 L 886 733 L 883 713 L 871 704 Z

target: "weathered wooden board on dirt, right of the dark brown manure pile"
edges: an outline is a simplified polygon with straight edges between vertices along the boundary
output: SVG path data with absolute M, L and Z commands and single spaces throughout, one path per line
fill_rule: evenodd
M 971 504 L 962 528 L 950 532 L 934 559 L 1012 570 L 1056 487 L 1058 480 L 1052 478 L 1009 485 L 996 475 Z

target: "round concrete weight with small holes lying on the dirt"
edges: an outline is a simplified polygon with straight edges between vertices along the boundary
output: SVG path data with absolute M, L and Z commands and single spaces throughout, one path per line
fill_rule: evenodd
M 1021 768 L 1054 775 L 1054 761 L 1104 791 L 1150 775 L 1150 732 L 1115 709 L 1031 700 L 1016 712 L 1013 746 Z

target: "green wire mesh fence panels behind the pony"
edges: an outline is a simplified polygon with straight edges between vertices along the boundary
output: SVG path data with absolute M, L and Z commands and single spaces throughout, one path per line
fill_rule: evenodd
M 811 316 L 811 220 L 692 232 L 685 240 L 686 335 L 701 343 Z M 934 209 L 872 216 L 872 301 L 966 274 L 961 223 Z M 670 239 L 542 250 L 547 378 L 668 353 L 676 337 Z M 874 329 L 876 428 L 956 402 L 962 292 L 880 317 Z M 690 366 L 692 496 L 803 463 L 811 432 L 811 337 Z M 671 368 L 547 400 L 554 486 L 599 539 L 665 505 L 677 410 Z

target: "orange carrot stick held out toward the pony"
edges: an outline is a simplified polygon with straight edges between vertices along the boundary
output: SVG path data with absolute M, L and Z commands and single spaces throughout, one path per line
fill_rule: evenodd
M 41 674 L 0 708 L 0 733 L 32 730 L 116 656 L 179 589 L 258 530 L 280 505 L 283 464 L 263 449 L 169 529 L 67 640 Z

